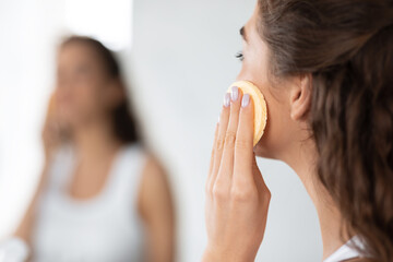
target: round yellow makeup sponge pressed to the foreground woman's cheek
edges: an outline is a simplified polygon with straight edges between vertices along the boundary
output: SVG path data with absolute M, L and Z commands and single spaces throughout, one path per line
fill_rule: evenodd
M 237 86 L 242 91 L 242 94 L 249 94 L 254 105 L 254 138 L 253 146 L 260 141 L 263 135 L 267 122 L 267 108 L 266 102 L 261 91 L 249 81 L 237 81 L 233 83 L 228 92 L 231 93 L 231 87 Z

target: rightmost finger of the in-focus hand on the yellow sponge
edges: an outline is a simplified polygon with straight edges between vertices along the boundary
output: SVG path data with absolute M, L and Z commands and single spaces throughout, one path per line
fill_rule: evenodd
M 233 187 L 247 190 L 254 187 L 253 179 L 253 103 L 249 94 L 245 94 L 241 100 L 239 124 L 235 143 L 235 163 Z

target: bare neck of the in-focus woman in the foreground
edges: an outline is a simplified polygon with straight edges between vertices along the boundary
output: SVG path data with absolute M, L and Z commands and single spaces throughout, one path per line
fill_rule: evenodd
M 319 217 L 323 242 L 323 259 L 344 245 L 341 238 L 342 217 L 330 193 L 318 179 L 318 152 L 312 139 L 293 144 L 284 162 L 299 176 L 310 195 Z

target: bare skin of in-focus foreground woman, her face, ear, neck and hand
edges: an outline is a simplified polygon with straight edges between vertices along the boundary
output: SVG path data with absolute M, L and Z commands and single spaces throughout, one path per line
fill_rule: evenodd
M 318 152 L 307 122 L 310 110 L 311 75 L 275 79 L 269 71 L 269 48 L 257 31 L 257 5 L 245 25 L 243 60 L 237 80 L 253 82 L 267 104 L 267 126 L 252 147 L 252 103 L 241 107 L 242 94 L 222 108 L 206 181 L 207 247 L 203 261 L 254 261 L 263 240 L 271 192 L 255 157 L 281 159 L 299 176 L 319 216 L 323 259 L 350 237 L 341 238 L 341 214 L 330 194 L 317 180 Z M 350 262 L 369 261 L 353 259 Z

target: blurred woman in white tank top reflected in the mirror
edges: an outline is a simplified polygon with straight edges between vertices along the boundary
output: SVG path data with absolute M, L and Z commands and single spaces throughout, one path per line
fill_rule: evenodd
M 16 237 L 39 262 L 174 261 L 168 182 L 138 135 L 114 55 L 73 36 L 57 67 L 44 177 Z

